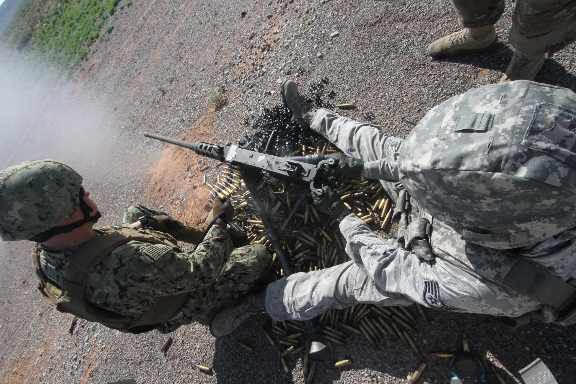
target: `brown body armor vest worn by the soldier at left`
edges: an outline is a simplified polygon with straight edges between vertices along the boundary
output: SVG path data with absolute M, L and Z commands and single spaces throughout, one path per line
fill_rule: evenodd
M 152 244 L 165 244 L 173 250 L 181 251 L 176 240 L 168 234 L 155 231 L 138 231 L 131 228 L 101 227 L 106 232 L 88 240 L 69 257 L 69 265 L 64 272 L 62 287 L 48 279 L 40 268 L 40 244 L 36 244 L 32 252 L 32 264 L 40 284 L 38 290 L 42 298 L 60 312 L 70 313 L 79 318 L 100 323 L 112 329 L 128 333 L 143 333 L 155 329 L 182 306 L 188 293 L 161 296 L 154 300 L 152 307 L 145 313 L 137 316 L 126 316 L 113 313 L 89 303 L 84 296 L 84 287 L 88 274 L 111 251 L 137 240 Z

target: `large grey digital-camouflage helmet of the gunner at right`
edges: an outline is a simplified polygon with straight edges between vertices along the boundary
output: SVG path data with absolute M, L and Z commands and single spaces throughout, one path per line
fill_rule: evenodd
M 465 240 L 526 246 L 576 226 L 575 132 L 570 89 L 531 81 L 471 89 L 408 135 L 401 183 Z

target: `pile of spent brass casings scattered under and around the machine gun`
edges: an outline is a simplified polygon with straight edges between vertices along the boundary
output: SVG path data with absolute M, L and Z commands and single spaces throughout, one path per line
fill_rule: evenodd
M 310 155 L 312 153 L 339 153 L 324 138 L 315 145 L 300 145 L 298 150 L 291 152 L 294 156 Z M 213 194 L 220 198 L 230 198 L 236 217 L 233 223 L 244 229 L 248 240 L 252 244 L 264 244 L 273 253 L 274 268 L 271 280 L 284 276 L 280 263 L 272 250 L 270 240 L 266 235 L 266 228 L 259 216 L 256 206 L 248 190 L 241 180 L 241 169 L 236 166 L 223 165 L 222 178 L 228 182 L 227 189 L 216 189 Z M 318 212 L 313 204 L 311 191 L 308 186 L 295 185 L 284 180 L 263 176 L 257 187 L 260 199 L 266 205 L 266 212 L 278 230 L 281 246 L 286 254 L 293 272 L 310 272 L 338 265 L 350 260 L 344 252 L 346 240 L 340 234 L 338 223 L 331 220 L 327 214 Z M 342 185 L 335 188 L 342 201 L 350 210 L 357 214 L 372 229 L 388 227 L 392 216 L 392 201 L 384 191 L 378 180 L 344 179 Z M 284 224 L 288 213 L 297 202 L 298 197 L 304 193 L 302 204 L 295 210 L 294 215 Z M 283 225 L 284 224 L 284 225 Z M 416 304 L 418 306 L 418 304 Z M 421 306 L 418 310 L 427 323 L 426 314 Z M 320 326 L 322 336 L 334 347 L 346 345 L 346 337 L 351 333 L 361 334 L 373 345 L 380 342 L 385 336 L 396 337 L 407 348 L 411 348 L 423 359 L 422 353 L 414 342 L 413 333 L 417 333 L 416 318 L 406 307 L 377 307 L 372 304 L 356 304 L 343 310 L 331 309 L 316 319 Z M 304 353 L 306 333 L 299 322 L 284 321 L 272 322 L 270 329 L 264 334 L 273 346 L 278 345 L 279 358 L 286 372 L 289 364 L 286 359 Z M 251 348 L 249 345 L 241 345 Z M 278 347 L 277 347 L 278 348 Z M 316 370 L 316 362 L 308 366 L 308 355 L 304 353 L 304 374 L 306 382 L 312 382 Z M 335 367 L 351 364 L 350 359 L 335 362 Z M 419 377 L 426 364 L 412 374 L 414 381 Z

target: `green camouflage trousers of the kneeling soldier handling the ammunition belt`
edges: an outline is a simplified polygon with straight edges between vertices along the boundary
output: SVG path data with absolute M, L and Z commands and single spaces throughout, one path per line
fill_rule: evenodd
M 134 205 L 128 208 L 124 214 L 124 224 L 138 221 L 143 215 L 168 215 L 168 213 L 147 205 Z M 195 227 L 199 231 L 199 238 L 203 234 L 201 227 Z M 251 244 L 234 249 L 229 236 L 225 243 L 225 257 L 227 259 L 221 272 L 218 273 L 213 284 L 209 287 L 198 289 L 188 293 L 188 298 L 175 315 L 158 327 L 161 333 L 176 330 L 181 325 L 200 322 L 204 325 L 210 321 L 212 313 L 232 305 L 241 296 L 246 295 L 258 283 L 264 283 L 272 266 L 272 257 L 268 249 L 262 244 Z M 192 257 L 200 258 L 203 251 L 198 247 Z

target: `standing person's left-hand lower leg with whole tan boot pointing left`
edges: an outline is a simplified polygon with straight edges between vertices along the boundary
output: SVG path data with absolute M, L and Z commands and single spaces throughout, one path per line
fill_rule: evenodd
M 463 52 L 483 52 L 496 45 L 494 24 L 504 12 L 504 0 L 452 0 L 464 29 L 435 40 L 428 54 L 440 58 Z

